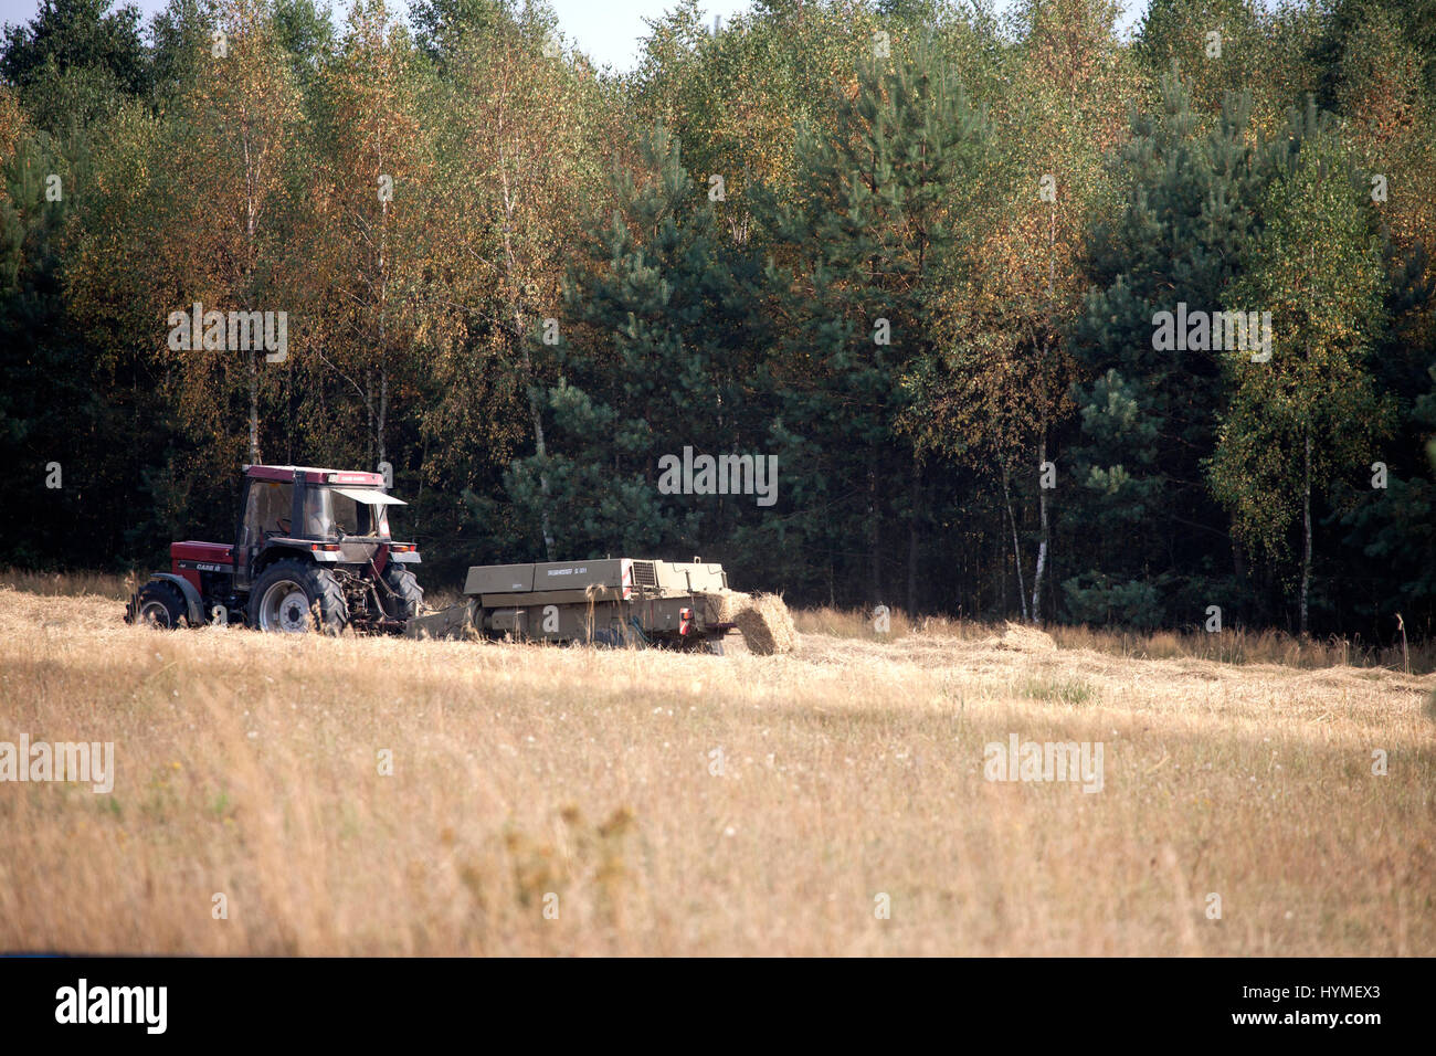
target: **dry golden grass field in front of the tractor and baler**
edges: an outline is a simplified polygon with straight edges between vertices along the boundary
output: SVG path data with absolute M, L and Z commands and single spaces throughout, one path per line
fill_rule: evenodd
M 1432 677 L 803 622 L 793 655 L 718 658 L 119 616 L 0 589 L 0 740 L 118 763 L 112 796 L 0 784 L 0 950 L 1436 953 Z M 984 780 L 1010 733 L 1103 741 L 1103 790 Z

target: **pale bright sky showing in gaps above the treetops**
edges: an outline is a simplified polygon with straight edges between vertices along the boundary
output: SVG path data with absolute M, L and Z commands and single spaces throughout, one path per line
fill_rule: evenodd
M 1012 0 L 998 0 L 1002 10 Z M 158 10 L 162 10 L 167 0 L 135 0 L 145 20 Z M 393 0 L 395 7 L 404 9 L 404 0 Z M 648 32 L 643 19 L 656 19 L 673 0 L 550 0 L 559 14 L 559 24 L 566 37 L 576 42 L 579 49 L 586 52 L 600 66 L 613 66 L 620 70 L 633 69 L 638 65 L 638 42 Z M 336 17 L 348 9 L 343 0 L 333 0 L 332 6 Z M 702 7 L 708 13 L 707 22 L 711 24 L 714 16 L 728 22 L 734 13 L 745 11 L 750 0 L 705 0 Z M 1124 0 L 1126 14 L 1119 22 L 1122 29 L 1136 23 L 1144 6 L 1144 0 Z M 29 22 L 40 9 L 40 0 L 0 0 L 0 22 Z

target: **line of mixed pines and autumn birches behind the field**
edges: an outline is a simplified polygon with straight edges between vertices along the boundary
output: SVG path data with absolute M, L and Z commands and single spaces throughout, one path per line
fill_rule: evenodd
M 244 463 L 389 466 L 431 585 L 702 555 L 1429 632 L 1436 3 L 1117 14 L 682 0 L 615 72 L 543 3 L 45 0 L 0 49 L 0 560 L 145 566 L 233 533 Z M 211 312 L 284 353 L 177 348 Z

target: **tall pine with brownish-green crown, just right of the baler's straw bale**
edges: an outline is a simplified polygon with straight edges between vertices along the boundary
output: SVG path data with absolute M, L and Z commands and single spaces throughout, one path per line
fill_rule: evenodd
M 922 466 L 899 435 L 913 401 L 905 376 L 932 355 L 954 223 L 979 191 L 984 136 L 935 49 L 866 56 L 831 125 L 800 136 L 796 203 L 767 214 L 783 394 L 774 443 L 807 511 L 791 533 L 810 553 L 813 586 L 841 570 L 863 585 L 850 596 L 880 602 L 886 553 L 899 549 L 908 606 L 918 603 Z

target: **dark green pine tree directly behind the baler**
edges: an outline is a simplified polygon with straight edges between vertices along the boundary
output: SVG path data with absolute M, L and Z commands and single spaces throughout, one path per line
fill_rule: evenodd
M 642 175 L 615 172 L 615 211 L 589 233 L 587 260 L 566 287 L 560 381 L 543 394 L 547 453 L 505 481 L 523 519 L 544 509 L 556 552 L 705 553 L 741 559 L 735 530 L 754 496 L 666 494 L 659 460 L 758 454 L 754 312 L 757 261 L 724 236 L 705 190 L 659 126 L 640 145 Z

